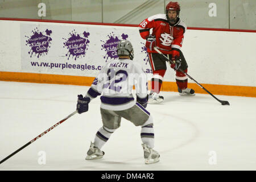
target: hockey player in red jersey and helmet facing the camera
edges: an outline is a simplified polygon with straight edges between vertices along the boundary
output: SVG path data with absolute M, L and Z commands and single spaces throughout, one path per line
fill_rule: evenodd
M 171 64 L 171 68 L 176 71 L 176 84 L 179 94 L 181 96 L 195 96 L 195 91 L 187 88 L 187 76 L 179 71 L 179 69 L 183 69 L 186 73 L 188 71 L 187 61 L 180 50 L 187 26 L 179 18 L 179 13 L 179 3 L 169 2 L 166 6 L 166 14 L 150 16 L 139 24 L 139 33 L 143 39 L 146 39 L 148 57 L 153 72 L 148 103 L 163 101 L 163 96 L 158 94 L 167 69 L 166 58 L 156 52 L 154 47 L 174 61 L 175 64 Z M 150 34 L 150 30 L 152 30 L 152 34 Z

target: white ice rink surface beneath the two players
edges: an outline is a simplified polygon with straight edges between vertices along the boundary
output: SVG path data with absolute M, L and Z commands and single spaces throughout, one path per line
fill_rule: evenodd
M 0 160 L 73 113 L 77 94 L 88 89 L 0 81 Z M 85 160 L 102 126 L 98 97 L 87 113 L 73 115 L 0 164 L 0 170 L 256 170 L 256 98 L 216 95 L 230 103 L 222 106 L 209 94 L 161 94 L 162 104 L 147 106 L 159 163 L 144 164 L 141 127 L 126 119 L 102 148 L 104 158 Z M 39 164 L 43 156 L 46 164 Z

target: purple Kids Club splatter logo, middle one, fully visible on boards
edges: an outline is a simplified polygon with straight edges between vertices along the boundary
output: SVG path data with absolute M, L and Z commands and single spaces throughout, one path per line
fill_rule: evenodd
M 82 35 L 79 35 L 73 30 L 71 33 L 69 33 L 70 37 L 64 40 L 67 40 L 64 42 L 63 47 L 67 47 L 68 53 L 65 56 L 69 57 L 72 55 L 72 57 L 75 56 L 75 60 L 79 57 L 84 57 L 86 50 L 88 50 L 88 44 L 90 41 L 88 40 L 88 36 L 90 35 L 89 32 L 84 31 Z

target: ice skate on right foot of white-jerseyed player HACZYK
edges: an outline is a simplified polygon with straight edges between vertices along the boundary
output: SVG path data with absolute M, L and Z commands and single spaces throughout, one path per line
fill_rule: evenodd
M 160 155 L 154 149 L 148 147 L 146 144 L 142 143 L 144 150 L 145 164 L 153 164 L 159 162 Z

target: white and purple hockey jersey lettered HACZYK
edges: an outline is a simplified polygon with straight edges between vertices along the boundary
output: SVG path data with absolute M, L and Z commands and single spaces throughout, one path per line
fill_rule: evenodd
M 101 108 L 125 110 L 133 107 L 133 86 L 140 100 L 147 100 L 147 76 L 141 65 L 130 59 L 117 59 L 105 65 L 94 79 L 86 96 L 101 95 Z

